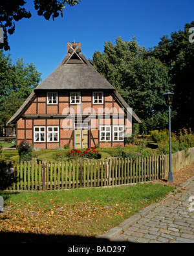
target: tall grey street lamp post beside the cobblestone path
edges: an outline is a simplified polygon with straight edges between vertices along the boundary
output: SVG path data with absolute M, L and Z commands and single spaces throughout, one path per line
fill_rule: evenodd
M 163 94 L 166 100 L 166 104 L 168 106 L 168 123 L 169 123 L 169 172 L 167 175 L 167 181 L 173 182 L 173 171 L 172 171 L 172 152 L 171 152 L 171 104 L 173 103 L 173 95 L 169 90 Z

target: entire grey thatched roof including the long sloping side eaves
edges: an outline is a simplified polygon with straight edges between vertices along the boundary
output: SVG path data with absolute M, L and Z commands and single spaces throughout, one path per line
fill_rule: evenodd
M 49 91 L 49 90 L 111 90 L 114 96 L 120 104 L 127 110 L 129 105 L 120 96 L 116 89 L 107 80 L 98 73 L 92 67 L 90 62 L 81 54 L 80 44 L 72 45 L 69 47 L 67 56 L 63 59 L 61 64 L 45 79 L 41 84 L 39 84 L 30 96 L 25 100 L 23 105 L 16 111 L 16 113 L 10 118 L 7 124 L 11 122 L 16 122 L 17 119 L 23 114 L 25 109 L 28 107 L 30 102 L 34 100 L 38 91 Z M 136 122 L 141 122 L 137 115 L 132 111 L 133 119 Z

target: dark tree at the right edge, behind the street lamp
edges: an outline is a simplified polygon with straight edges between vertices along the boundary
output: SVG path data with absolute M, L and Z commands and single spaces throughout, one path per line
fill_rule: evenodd
M 193 127 L 194 124 L 194 43 L 189 42 L 191 27 L 194 27 L 194 21 L 186 23 L 184 30 L 172 32 L 170 38 L 160 38 L 158 46 L 150 51 L 151 56 L 169 67 L 171 83 L 175 84 L 173 108 L 178 113 L 177 123 L 180 128 Z

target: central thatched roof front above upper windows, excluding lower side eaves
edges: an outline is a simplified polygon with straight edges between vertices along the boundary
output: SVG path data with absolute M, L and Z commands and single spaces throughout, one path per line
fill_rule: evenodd
M 79 52 L 68 53 L 58 67 L 36 87 L 43 89 L 113 89 L 114 87 L 92 67 Z

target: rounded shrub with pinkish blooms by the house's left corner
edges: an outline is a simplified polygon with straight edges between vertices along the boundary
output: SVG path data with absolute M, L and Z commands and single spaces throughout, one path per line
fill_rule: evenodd
M 32 145 L 29 141 L 21 141 L 18 146 L 19 161 L 31 161 L 32 160 Z

